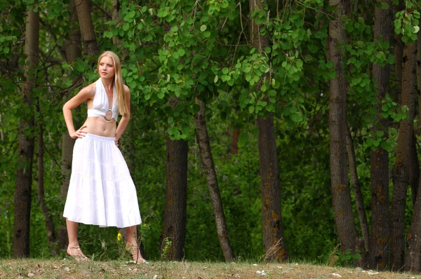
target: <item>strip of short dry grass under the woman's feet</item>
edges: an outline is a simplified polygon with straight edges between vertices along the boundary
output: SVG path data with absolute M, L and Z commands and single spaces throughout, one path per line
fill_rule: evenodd
M 215 263 L 197 261 L 126 261 L 76 263 L 73 259 L 0 259 L 0 278 L 421 278 L 409 273 L 363 271 L 361 268 L 316 266 L 311 264 Z

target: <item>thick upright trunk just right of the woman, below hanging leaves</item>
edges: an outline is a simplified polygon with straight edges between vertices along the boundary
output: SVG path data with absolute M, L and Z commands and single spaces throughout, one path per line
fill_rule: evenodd
M 188 142 L 166 137 L 166 194 L 162 240 L 171 240 L 168 259 L 184 257 L 187 215 L 187 152 Z

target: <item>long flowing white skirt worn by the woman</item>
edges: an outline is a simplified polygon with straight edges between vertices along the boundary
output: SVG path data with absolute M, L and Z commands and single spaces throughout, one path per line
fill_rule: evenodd
M 142 223 L 135 184 L 114 137 L 76 140 L 63 217 L 118 228 Z

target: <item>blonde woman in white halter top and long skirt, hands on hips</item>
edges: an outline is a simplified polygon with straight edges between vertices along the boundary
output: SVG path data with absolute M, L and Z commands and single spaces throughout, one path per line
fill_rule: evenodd
M 106 51 L 98 58 L 100 79 L 83 88 L 63 106 L 69 135 L 76 139 L 72 176 L 63 217 L 66 218 L 67 254 L 90 261 L 77 239 L 79 223 L 126 228 L 126 250 L 135 262 L 145 262 L 136 244 L 136 225 L 142 223 L 135 185 L 119 148 L 119 138 L 130 119 L 130 91 L 123 84 L 119 57 Z M 72 109 L 88 104 L 85 123 L 75 130 Z M 118 114 L 121 120 L 116 127 Z

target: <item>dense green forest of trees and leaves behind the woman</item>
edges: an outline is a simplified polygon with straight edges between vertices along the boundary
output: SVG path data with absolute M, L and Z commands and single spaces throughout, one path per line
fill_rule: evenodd
M 61 108 L 113 50 L 131 88 L 121 150 L 147 258 L 163 248 L 190 260 L 334 254 L 419 271 L 419 9 L 0 1 L 0 257 L 63 254 L 73 141 Z M 76 126 L 85 117 L 82 106 Z M 81 225 L 81 246 L 116 258 L 118 232 Z

